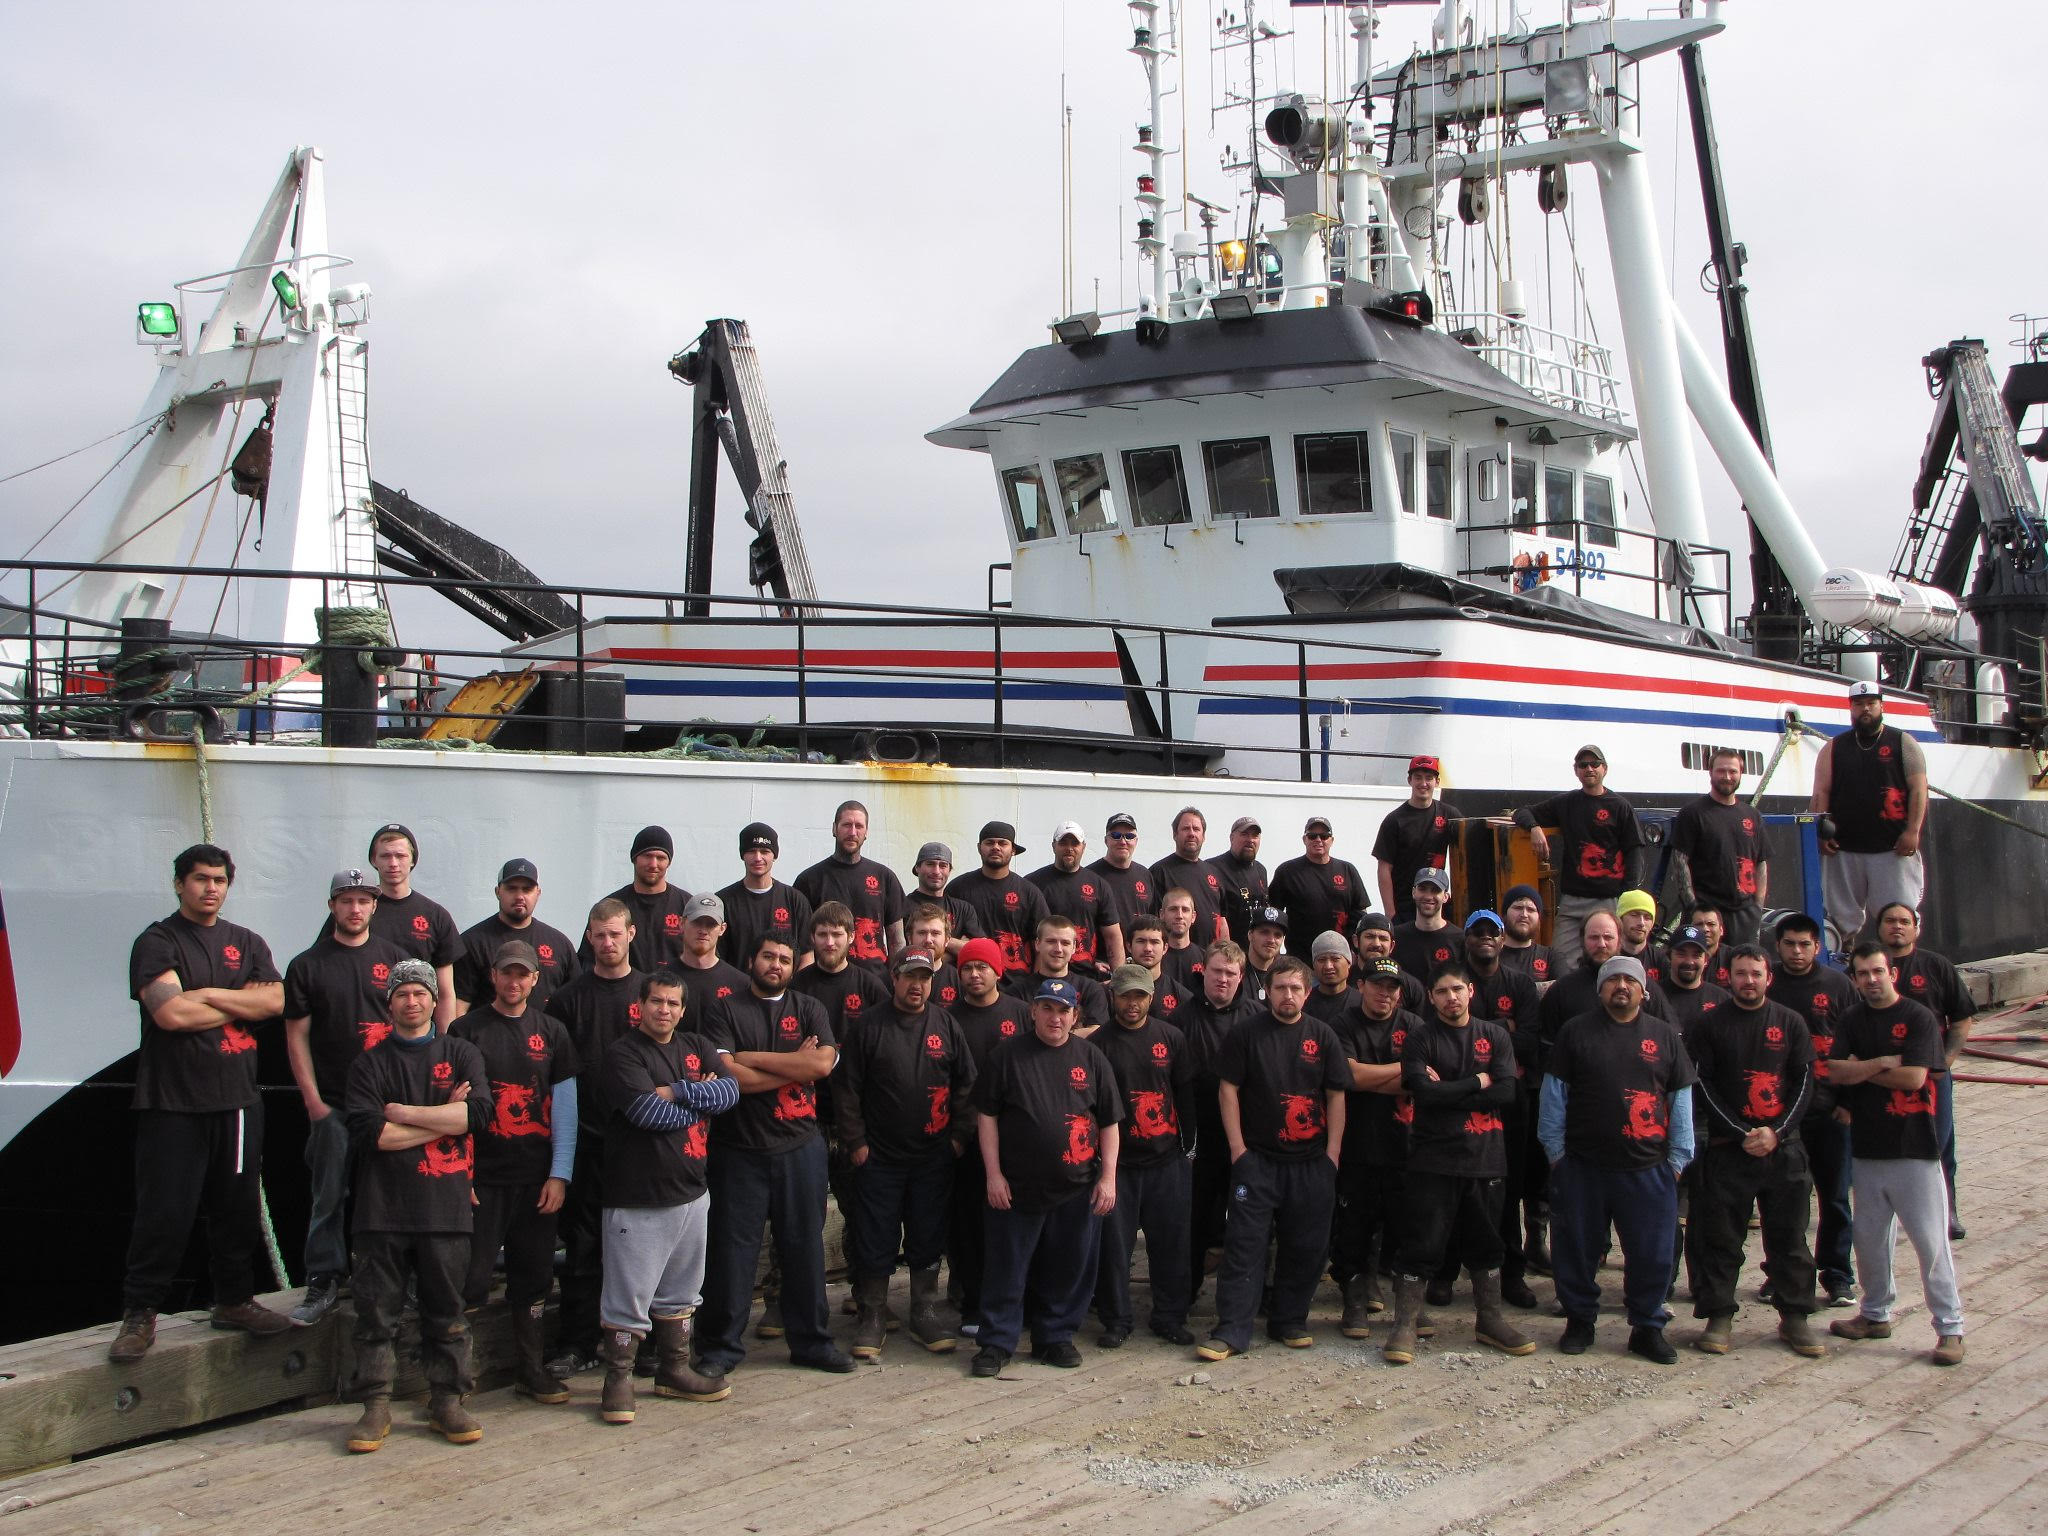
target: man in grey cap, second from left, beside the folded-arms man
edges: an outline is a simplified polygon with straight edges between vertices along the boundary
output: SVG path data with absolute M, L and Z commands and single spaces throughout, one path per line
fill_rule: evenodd
M 385 989 L 406 950 L 371 932 L 377 881 L 344 868 L 328 881 L 328 934 L 285 967 L 285 1053 L 305 1104 L 305 1298 L 291 1321 L 311 1327 L 348 1274 L 348 1124 L 336 1114 L 356 1057 L 391 1032 Z

